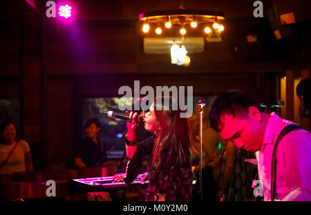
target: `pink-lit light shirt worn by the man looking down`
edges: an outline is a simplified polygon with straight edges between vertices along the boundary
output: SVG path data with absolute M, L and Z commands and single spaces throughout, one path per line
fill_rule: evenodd
M 274 144 L 281 130 L 294 124 L 274 112 L 265 127 L 261 149 L 256 153 L 258 176 L 263 185 L 265 201 L 271 201 L 270 181 Z M 276 152 L 276 200 L 311 201 L 311 134 L 294 130 L 279 142 Z

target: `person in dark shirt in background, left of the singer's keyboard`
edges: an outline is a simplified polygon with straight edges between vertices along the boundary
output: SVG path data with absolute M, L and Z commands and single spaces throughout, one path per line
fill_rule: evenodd
M 75 156 L 77 167 L 93 167 L 106 155 L 106 145 L 98 138 L 100 127 L 98 119 L 88 119 L 86 122 L 87 137 L 82 140 Z

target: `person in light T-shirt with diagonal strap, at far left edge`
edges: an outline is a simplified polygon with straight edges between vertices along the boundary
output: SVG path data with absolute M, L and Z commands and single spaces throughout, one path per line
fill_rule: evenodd
M 30 148 L 17 139 L 15 125 L 6 121 L 0 126 L 0 174 L 32 171 Z

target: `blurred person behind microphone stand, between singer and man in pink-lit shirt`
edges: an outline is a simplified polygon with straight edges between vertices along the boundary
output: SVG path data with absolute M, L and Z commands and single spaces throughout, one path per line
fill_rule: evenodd
M 232 177 L 234 168 L 234 156 L 236 147 L 232 142 L 225 141 L 218 132 L 215 132 L 209 123 L 207 117 L 208 107 L 202 109 L 202 144 L 203 144 L 203 160 L 202 160 L 202 188 L 203 201 L 219 201 L 226 195 L 229 181 Z M 196 149 L 200 149 L 200 112 L 198 105 L 196 112 L 189 119 L 191 133 L 196 141 Z M 197 153 L 198 154 L 198 153 Z M 198 154 L 199 156 L 199 154 Z M 199 157 L 197 156 L 196 177 L 198 178 Z M 198 191 L 198 183 L 195 185 Z M 194 192 L 196 192 L 194 190 Z M 199 194 L 194 193 L 194 201 L 199 201 Z

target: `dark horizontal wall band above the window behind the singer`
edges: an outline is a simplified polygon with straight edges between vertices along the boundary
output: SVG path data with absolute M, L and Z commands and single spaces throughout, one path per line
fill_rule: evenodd
M 193 86 L 194 94 L 215 94 L 230 89 L 243 90 L 254 95 L 260 101 L 270 101 L 270 77 L 261 75 L 150 75 L 150 76 L 81 76 L 79 80 L 79 94 L 81 96 L 115 96 L 123 85 L 133 89 L 134 81 L 140 81 L 140 88 L 150 85 L 156 86 Z

